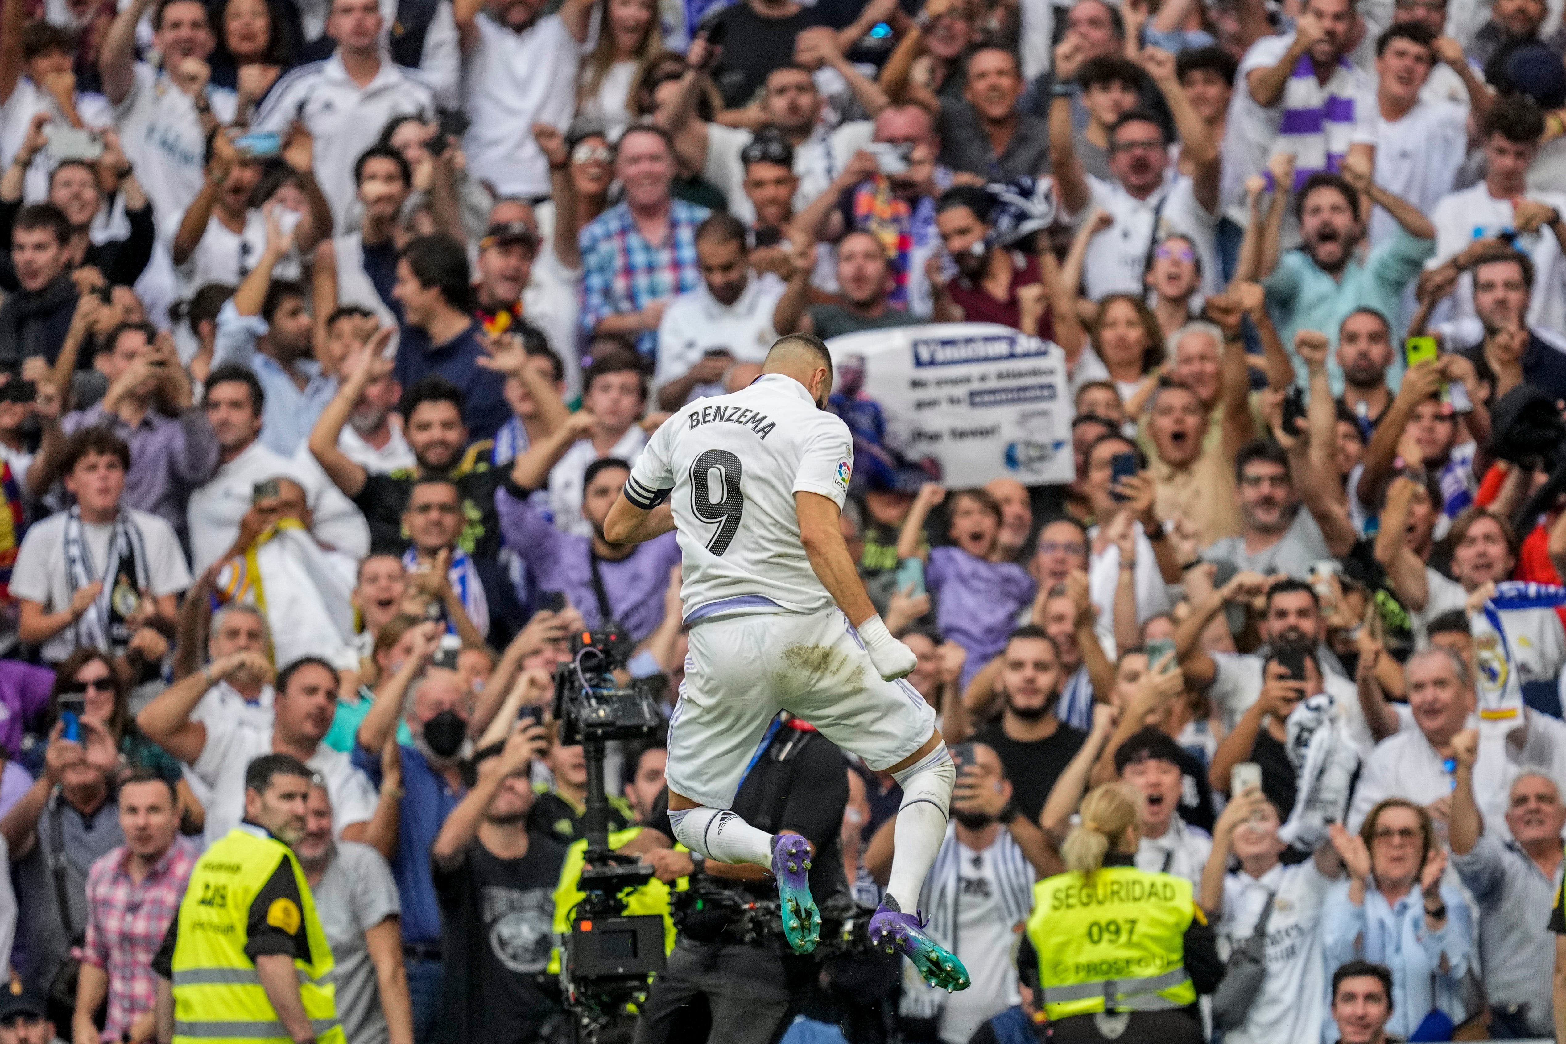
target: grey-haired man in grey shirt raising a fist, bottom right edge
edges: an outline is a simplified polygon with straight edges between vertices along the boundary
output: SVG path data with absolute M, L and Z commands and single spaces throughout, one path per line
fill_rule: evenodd
M 1561 889 L 1566 806 L 1547 775 L 1525 769 L 1506 794 L 1505 831 L 1486 830 L 1474 797 L 1478 731 L 1452 740 L 1452 867 L 1478 902 L 1478 947 L 1496 1036 L 1550 1036 L 1555 933 L 1541 916 Z

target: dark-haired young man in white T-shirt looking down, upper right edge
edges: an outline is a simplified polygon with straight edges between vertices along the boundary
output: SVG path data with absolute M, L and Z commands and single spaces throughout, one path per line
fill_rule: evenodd
M 1528 171 L 1543 135 L 1544 114 L 1533 102 L 1496 99 L 1483 125 L 1485 180 L 1444 196 L 1430 211 L 1436 254 L 1427 268 L 1458 274 L 1450 308 L 1455 319 L 1477 315 L 1472 293 L 1474 260 L 1483 249 L 1478 241 L 1511 232 L 1511 246 L 1527 254 L 1535 272 L 1533 293 L 1525 302 L 1528 326 L 1552 330 L 1566 326 L 1566 285 L 1561 282 L 1566 196 L 1528 188 Z

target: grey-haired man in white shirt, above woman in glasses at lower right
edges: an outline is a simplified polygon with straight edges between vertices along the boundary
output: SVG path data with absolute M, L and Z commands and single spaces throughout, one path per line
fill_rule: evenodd
M 1508 784 L 1521 769 L 1535 769 L 1560 786 L 1566 776 L 1566 725 L 1524 709 L 1521 720 L 1480 722 L 1475 714 L 1474 678 L 1463 659 L 1447 648 L 1430 646 L 1408 657 L 1408 709 L 1413 725 L 1377 743 L 1359 770 L 1359 786 L 1348 809 L 1348 828 L 1359 830 L 1366 814 L 1389 797 L 1423 805 L 1431 815 L 1452 815 L 1455 743 L 1466 729 L 1477 729 L 1472 790 L 1478 811 L 1497 833 L 1506 823 Z M 1464 740 L 1466 743 L 1467 740 Z

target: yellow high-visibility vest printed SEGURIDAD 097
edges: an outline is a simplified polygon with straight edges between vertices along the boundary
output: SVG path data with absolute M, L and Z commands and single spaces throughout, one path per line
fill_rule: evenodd
M 1168 873 L 1104 867 L 1092 881 L 1076 872 L 1045 878 L 1027 919 L 1045 1013 L 1065 1019 L 1195 1003 L 1185 974 L 1185 928 L 1195 917 L 1190 881 Z

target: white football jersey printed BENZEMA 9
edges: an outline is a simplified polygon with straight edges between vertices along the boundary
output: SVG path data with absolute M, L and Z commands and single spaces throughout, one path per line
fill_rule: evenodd
M 819 612 L 832 595 L 799 538 L 794 493 L 838 507 L 853 438 L 805 385 L 766 374 L 734 394 L 697 399 L 662 423 L 625 484 L 642 509 L 670 499 L 684 620 L 738 612 Z

